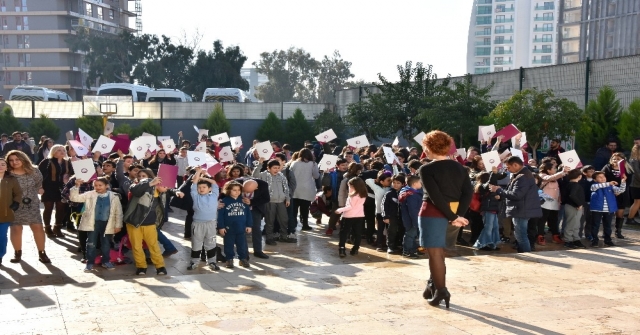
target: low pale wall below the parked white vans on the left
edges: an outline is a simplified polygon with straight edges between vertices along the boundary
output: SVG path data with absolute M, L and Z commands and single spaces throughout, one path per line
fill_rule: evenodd
M 52 119 L 77 119 L 83 115 L 101 115 L 95 103 L 6 101 L 15 117 L 33 119 L 46 114 Z M 324 109 L 333 109 L 330 104 L 298 103 L 223 103 L 222 109 L 230 120 L 264 120 L 270 112 L 285 120 L 300 108 L 307 120 L 313 120 Z M 203 120 L 209 117 L 215 103 L 209 102 L 126 102 L 117 103 L 117 114 L 113 119 L 155 120 Z

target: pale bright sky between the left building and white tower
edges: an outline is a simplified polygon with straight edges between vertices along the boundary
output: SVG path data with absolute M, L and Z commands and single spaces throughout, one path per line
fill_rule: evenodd
M 143 32 L 173 39 L 202 34 L 239 45 L 249 57 L 299 47 L 316 59 L 339 50 L 355 79 L 397 79 L 405 61 L 431 64 L 438 76 L 466 72 L 472 0 L 142 0 Z M 130 2 L 130 6 L 133 2 Z M 219 13 L 218 13 L 219 12 Z

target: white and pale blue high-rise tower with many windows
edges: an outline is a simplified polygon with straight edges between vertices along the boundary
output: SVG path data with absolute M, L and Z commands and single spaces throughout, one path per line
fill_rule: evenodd
M 559 0 L 475 0 L 469 25 L 467 72 L 556 63 Z

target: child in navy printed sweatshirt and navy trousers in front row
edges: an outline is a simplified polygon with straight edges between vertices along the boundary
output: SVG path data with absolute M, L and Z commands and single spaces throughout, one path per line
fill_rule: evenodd
M 223 207 L 218 210 L 218 233 L 224 239 L 224 253 L 227 258 L 226 267 L 233 268 L 235 256 L 233 246 L 238 250 L 240 266 L 249 267 L 249 255 L 247 254 L 247 238 L 245 234 L 251 233 L 253 220 L 249 205 L 242 201 L 242 184 L 230 181 L 224 185 L 224 194 L 221 201 Z

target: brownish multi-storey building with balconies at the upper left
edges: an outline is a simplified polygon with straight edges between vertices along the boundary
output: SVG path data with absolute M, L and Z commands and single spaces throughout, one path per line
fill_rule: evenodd
M 76 29 L 108 34 L 130 28 L 136 13 L 129 0 L 0 0 L 0 94 L 9 98 L 19 85 L 66 92 L 82 99 L 86 69 L 82 54 L 66 39 Z M 139 0 L 135 2 L 139 7 Z M 141 24 L 141 23 L 140 23 Z

